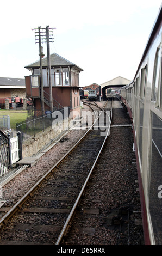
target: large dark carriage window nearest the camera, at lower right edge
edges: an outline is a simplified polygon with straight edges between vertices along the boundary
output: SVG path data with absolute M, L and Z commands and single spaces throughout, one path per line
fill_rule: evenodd
M 152 158 L 151 177 L 149 193 L 149 212 L 152 220 L 154 239 L 157 245 L 162 241 L 162 199 L 159 197 L 159 186 L 162 185 L 161 164 L 162 164 L 162 120 L 152 113 Z

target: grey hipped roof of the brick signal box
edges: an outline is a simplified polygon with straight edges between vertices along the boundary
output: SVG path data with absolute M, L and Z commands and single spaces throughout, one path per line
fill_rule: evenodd
M 83 71 L 83 69 L 79 68 L 79 66 L 77 66 L 76 64 L 70 62 L 69 60 L 59 56 L 57 53 L 52 53 L 50 55 L 50 62 L 51 62 L 51 66 L 74 66 L 77 69 L 79 69 L 80 71 Z M 48 59 L 47 57 L 42 58 L 42 66 L 47 67 L 48 66 Z M 40 60 L 29 64 L 28 66 L 25 66 L 24 68 L 39 68 L 40 67 Z

